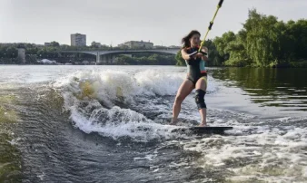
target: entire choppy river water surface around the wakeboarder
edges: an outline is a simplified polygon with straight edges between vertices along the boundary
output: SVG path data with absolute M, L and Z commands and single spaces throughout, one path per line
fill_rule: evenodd
M 208 72 L 223 135 L 171 132 L 184 67 L 1 66 L 0 182 L 307 182 L 306 70 Z

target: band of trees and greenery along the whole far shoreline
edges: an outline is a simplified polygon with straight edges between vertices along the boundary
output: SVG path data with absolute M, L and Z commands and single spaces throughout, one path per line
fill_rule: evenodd
M 49 46 L 23 43 L 26 64 L 44 64 L 48 59 L 57 64 L 96 64 L 95 55 L 86 53 L 60 53 L 75 50 L 128 50 L 129 48 L 102 45 L 74 47 L 52 42 Z M 207 66 L 223 67 L 307 67 L 307 20 L 279 21 L 273 15 L 249 10 L 248 18 L 238 33 L 231 31 L 221 37 L 206 40 L 209 49 Z M 18 64 L 17 47 L 20 43 L 0 43 L 0 64 Z M 167 49 L 167 47 L 161 47 Z M 132 53 L 132 57 L 117 55 L 114 63 L 120 65 L 178 65 L 185 62 L 178 52 Z M 86 61 L 86 62 L 85 62 Z M 55 63 L 55 62 L 54 62 Z M 50 63 L 49 63 L 50 64 Z M 51 62 L 51 64 L 53 64 Z M 98 63 L 97 63 L 98 64 Z

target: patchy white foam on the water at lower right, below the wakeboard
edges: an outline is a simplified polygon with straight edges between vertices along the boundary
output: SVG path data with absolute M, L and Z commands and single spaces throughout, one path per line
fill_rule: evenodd
M 203 153 L 200 167 L 223 169 L 231 166 L 229 170 L 233 171 L 233 176 L 228 179 L 233 181 L 250 178 L 270 182 L 307 180 L 307 129 L 257 128 L 257 133 L 253 134 L 191 140 L 183 144 L 183 149 Z

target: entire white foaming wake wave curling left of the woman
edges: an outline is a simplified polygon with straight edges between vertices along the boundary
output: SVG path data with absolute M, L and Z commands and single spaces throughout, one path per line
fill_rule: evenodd
M 149 110 L 166 111 L 166 106 L 155 105 L 155 95 L 175 95 L 184 78 L 185 73 L 158 70 L 135 74 L 114 70 L 83 71 L 56 80 L 52 87 L 62 92 L 64 107 L 71 111 L 74 125 L 80 130 L 99 132 L 112 138 L 129 136 L 150 140 L 172 136 L 169 131 L 173 127 L 154 123 L 136 111 L 115 106 L 114 102 L 120 101 L 129 106 L 138 97 L 146 101 Z M 213 91 L 215 86 L 211 84 L 208 89 Z M 103 119 L 100 119 L 102 116 Z M 147 130 L 138 130 L 140 128 Z

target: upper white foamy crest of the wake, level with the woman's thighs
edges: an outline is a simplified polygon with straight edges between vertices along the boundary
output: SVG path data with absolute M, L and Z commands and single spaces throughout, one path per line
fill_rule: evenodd
M 67 88 L 70 92 L 81 92 L 80 84 L 87 82 L 94 90 L 96 99 L 129 98 L 135 95 L 174 94 L 181 82 L 182 74 L 158 71 L 127 72 L 106 70 L 102 72 L 74 72 L 53 83 L 55 88 Z

